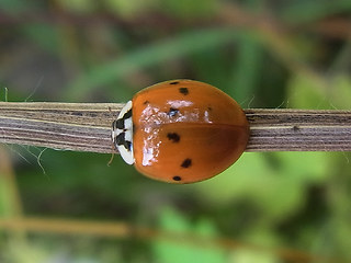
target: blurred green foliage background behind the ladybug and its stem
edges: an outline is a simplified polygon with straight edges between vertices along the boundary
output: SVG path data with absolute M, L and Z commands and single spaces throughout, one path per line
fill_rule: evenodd
M 189 78 L 244 107 L 350 108 L 350 0 L 0 0 L 0 100 L 125 102 Z M 0 226 L 39 220 L 1 227 L 1 263 L 351 262 L 348 152 L 245 153 L 170 185 L 43 150 L 0 148 Z

